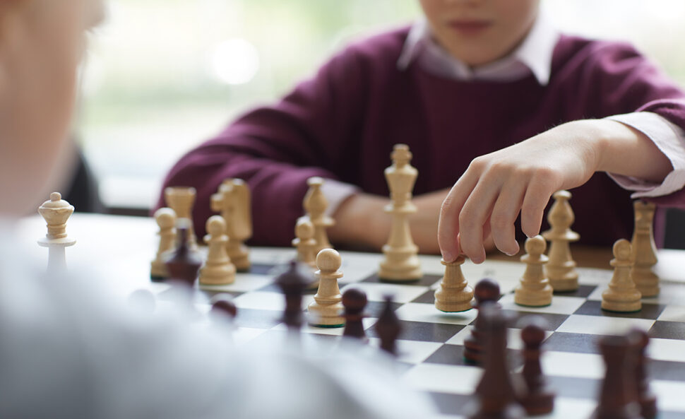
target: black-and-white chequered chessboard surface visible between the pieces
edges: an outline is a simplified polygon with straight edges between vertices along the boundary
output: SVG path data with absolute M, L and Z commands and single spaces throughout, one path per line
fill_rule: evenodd
M 292 249 L 253 249 L 254 268 L 238 273 L 235 283 L 197 290 L 196 304 L 206 312 L 208 298 L 230 293 L 238 306 L 234 340 L 240 344 L 280 344 L 287 332 L 280 324 L 284 298 L 273 284 L 294 251 Z M 439 410 L 438 418 L 464 418 L 473 401 L 473 391 L 482 370 L 463 359 L 463 340 L 470 334 L 475 310 L 444 313 L 434 307 L 434 293 L 443 268 L 438 257 L 420 256 L 424 277 L 414 283 L 381 283 L 376 270 L 379 254 L 341 252 L 342 291 L 350 286 L 367 293 L 369 304 L 364 327 L 370 346 L 379 346 L 374 325 L 383 307 L 383 295 L 395 295 L 393 308 L 403 326 L 397 342 L 398 370 L 413 388 L 424 391 Z M 607 261 L 608 267 L 608 261 Z M 486 261 L 463 265 L 464 276 L 474 286 L 479 279 L 493 278 L 500 284 L 504 312 L 511 318 L 508 330 L 508 359 L 513 372 L 523 365 L 520 356 L 520 329 L 532 314 L 547 322 L 542 365 L 549 384 L 556 391 L 556 408 L 543 418 L 589 418 L 597 405 L 597 392 L 604 377 L 604 362 L 597 343 L 603 336 L 638 326 L 653 337 L 648 348 L 653 390 L 660 406 L 660 419 L 685 418 L 685 284 L 662 281 L 662 293 L 643 300 L 637 313 L 604 312 L 602 292 L 612 271 L 579 268 L 580 288 L 554 295 L 548 307 L 520 307 L 513 302 L 513 289 L 525 270 L 519 263 Z M 150 288 L 158 300 L 170 295 L 167 285 Z M 316 290 L 308 290 L 304 304 L 313 300 Z M 342 329 L 302 328 L 304 350 L 315 353 L 340 344 Z M 429 417 L 427 415 L 427 417 Z

